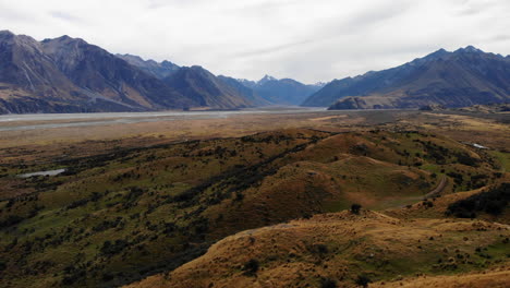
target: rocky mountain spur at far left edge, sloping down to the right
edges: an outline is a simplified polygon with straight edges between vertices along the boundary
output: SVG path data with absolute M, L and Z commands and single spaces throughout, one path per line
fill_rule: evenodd
M 45 53 L 34 38 L 0 32 L 0 113 L 83 111 L 88 97 Z

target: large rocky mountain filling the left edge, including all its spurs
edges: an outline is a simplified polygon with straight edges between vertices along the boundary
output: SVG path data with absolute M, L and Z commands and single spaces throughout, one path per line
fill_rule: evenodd
M 1 112 L 143 111 L 193 105 L 175 89 L 83 39 L 0 32 Z

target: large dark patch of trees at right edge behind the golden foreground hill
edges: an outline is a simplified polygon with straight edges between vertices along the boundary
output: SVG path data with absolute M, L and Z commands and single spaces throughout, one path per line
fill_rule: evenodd
M 485 212 L 490 215 L 500 215 L 510 202 L 510 183 L 489 189 L 486 192 L 474 194 L 448 206 L 447 215 L 459 218 L 475 218 L 476 213 Z

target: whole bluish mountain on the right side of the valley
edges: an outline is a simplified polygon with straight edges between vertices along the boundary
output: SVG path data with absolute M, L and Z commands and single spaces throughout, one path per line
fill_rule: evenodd
M 510 100 L 510 58 L 472 46 L 440 49 L 403 65 L 335 80 L 303 106 L 331 109 L 463 107 Z

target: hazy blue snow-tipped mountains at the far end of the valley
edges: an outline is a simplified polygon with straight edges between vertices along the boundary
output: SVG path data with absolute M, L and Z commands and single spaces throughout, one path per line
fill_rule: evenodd
M 292 79 L 278 80 L 266 75 L 258 82 L 239 80 L 254 89 L 260 97 L 276 105 L 300 105 L 309 95 L 321 88 L 321 84 L 306 85 Z

